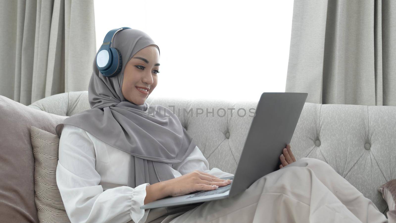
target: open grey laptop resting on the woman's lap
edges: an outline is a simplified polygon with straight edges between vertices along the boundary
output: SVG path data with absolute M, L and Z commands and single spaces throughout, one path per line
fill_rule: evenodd
M 255 116 L 239 158 L 232 183 L 211 191 L 196 191 L 162 198 L 140 209 L 185 206 L 235 196 L 256 180 L 279 170 L 279 156 L 290 143 L 308 93 L 264 92 L 257 103 Z

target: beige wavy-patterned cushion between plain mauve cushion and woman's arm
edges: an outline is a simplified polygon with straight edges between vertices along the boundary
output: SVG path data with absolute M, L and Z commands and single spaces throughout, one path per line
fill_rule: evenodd
M 30 126 L 34 156 L 34 202 L 40 222 L 70 222 L 56 183 L 59 137 Z

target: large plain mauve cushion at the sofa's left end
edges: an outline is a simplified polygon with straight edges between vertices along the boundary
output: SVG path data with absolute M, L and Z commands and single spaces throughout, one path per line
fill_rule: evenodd
M 55 126 L 67 116 L 32 109 L 2 95 L 0 114 L 0 216 L 3 222 L 39 222 L 29 126 L 56 134 Z

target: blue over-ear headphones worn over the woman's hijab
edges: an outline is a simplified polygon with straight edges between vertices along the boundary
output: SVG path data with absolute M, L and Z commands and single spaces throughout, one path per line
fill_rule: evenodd
M 122 69 L 122 57 L 121 52 L 117 48 L 110 47 L 113 42 L 113 38 L 116 33 L 123 29 L 131 29 L 129 27 L 122 27 L 118 29 L 110 30 L 105 39 L 103 39 L 103 44 L 99 49 L 99 53 L 96 56 L 96 67 L 99 72 L 105 77 L 114 77 Z

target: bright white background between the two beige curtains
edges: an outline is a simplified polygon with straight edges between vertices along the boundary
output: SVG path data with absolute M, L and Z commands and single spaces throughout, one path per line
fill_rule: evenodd
M 111 29 L 160 47 L 152 96 L 258 101 L 284 92 L 293 0 L 95 0 L 97 50 Z

